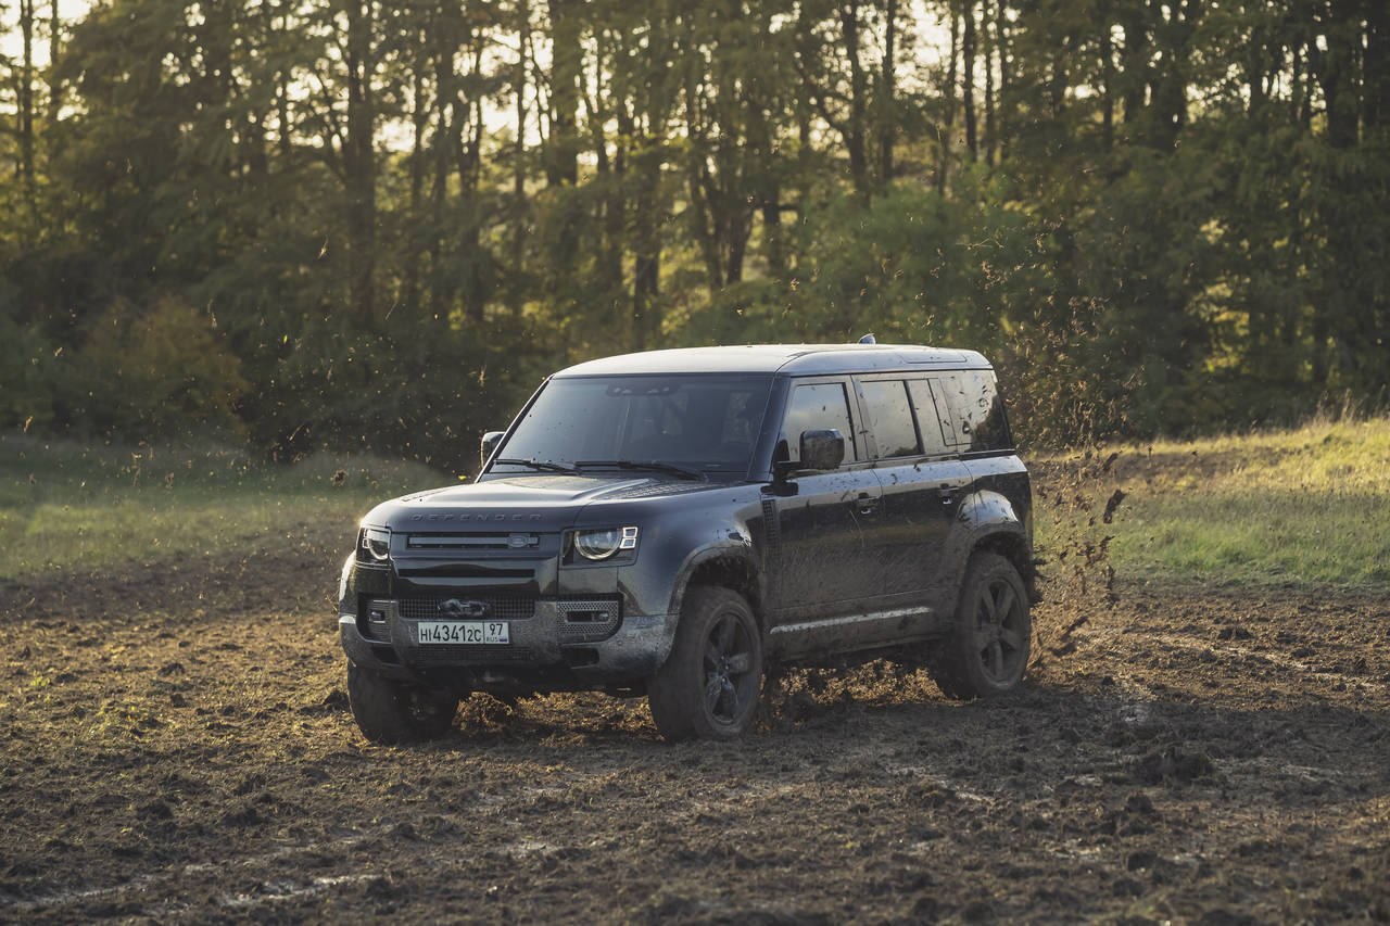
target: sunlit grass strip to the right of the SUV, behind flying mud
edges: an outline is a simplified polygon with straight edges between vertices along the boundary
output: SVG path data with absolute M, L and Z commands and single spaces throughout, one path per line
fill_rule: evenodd
M 1120 456 L 1101 471 L 1115 449 Z M 1109 535 L 1109 562 L 1122 578 L 1390 587 L 1386 419 L 1109 448 L 1088 460 L 1044 460 L 1038 473 L 1044 491 L 1054 489 L 1040 499 L 1037 521 L 1040 546 L 1054 559 Z M 1099 514 L 1115 488 L 1126 498 L 1105 524 Z M 1074 505 L 1079 494 L 1088 507 Z

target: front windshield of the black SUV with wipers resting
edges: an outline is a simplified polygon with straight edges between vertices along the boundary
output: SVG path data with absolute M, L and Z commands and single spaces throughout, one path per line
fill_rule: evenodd
M 550 380 L 498 452 L 493 471 L 538 471 L 537 463 L 580 470 L 666 463 L 746 473 L 770 385 L 770 375 Z

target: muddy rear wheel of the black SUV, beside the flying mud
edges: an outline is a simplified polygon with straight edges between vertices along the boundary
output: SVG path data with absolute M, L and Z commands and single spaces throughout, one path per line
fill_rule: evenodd
M 998 553 L 979 552 L 966 564 L 951 637 L 927 667 L 948 698 L 1002 695 L 1023 679 L 1031 637 L 1029 592 L 1019 570 Z

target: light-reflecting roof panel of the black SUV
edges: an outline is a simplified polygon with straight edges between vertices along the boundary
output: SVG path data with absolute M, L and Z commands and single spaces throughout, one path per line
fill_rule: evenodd
M 560 370 L 557 377 L 637 373 L 781 373 L 828 375 L 923 368 L 988 368 L 974 350 L 944 350 L 908 343 L 755 343 L 730 348 L 646 350 L 589 360 Z

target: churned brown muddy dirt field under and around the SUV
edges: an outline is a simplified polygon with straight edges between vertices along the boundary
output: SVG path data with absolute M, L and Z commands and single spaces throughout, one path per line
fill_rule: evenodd
M 0 919 L 1390 919 L 1383 599 L 1063 595 L 1004 702 L 874 663 L 730 745 L 556 695 L 378 748 L 348 530 L 0 590 Z

